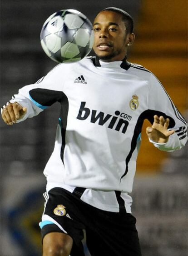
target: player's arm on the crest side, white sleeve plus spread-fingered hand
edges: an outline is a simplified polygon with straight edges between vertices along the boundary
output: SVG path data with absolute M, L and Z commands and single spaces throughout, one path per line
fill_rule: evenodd
M 153 95 L 157 96 L 157 100 Z M 150 120 L 152 126 L 146 128 L 149 141 L 162 151 L 181 149 L 188 139 L 187 121 L 154 75 L 150 83 L 149 109 L 165 114 L 165 118 L 163 115 L 154 115 L 153 122 Z M 167 116 L 169 118 L 166 118 Z

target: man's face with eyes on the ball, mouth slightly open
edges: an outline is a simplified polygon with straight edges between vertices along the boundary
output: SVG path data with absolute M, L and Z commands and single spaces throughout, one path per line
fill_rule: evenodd
M 121 15 L 112 11 L 99 13 L 94 20 L 94 52 L 104 61 L 123 60 L 127 53 L 128 33 Z

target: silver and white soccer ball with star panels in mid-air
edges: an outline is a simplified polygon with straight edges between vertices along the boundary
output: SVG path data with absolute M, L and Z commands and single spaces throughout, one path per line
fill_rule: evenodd
M 94 31 L 90 20 L 77 10 L 59 10 L 45 21 L 40 42 L 50 59 L 69 63 L 79 61 L 93 47 Z

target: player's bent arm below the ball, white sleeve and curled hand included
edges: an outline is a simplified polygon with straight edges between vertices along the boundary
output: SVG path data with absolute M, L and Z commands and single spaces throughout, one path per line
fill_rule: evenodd
M 63 65 L 63 71 L 66 66 Z M 57 65 L 45 77 L 35 84 L 26 85 L 19 90 L 1 109 L 3 120 L 8 125 L 24 121 L 38 115 L 54 102 L 59 101 L 63 94 L 62 66 Z

